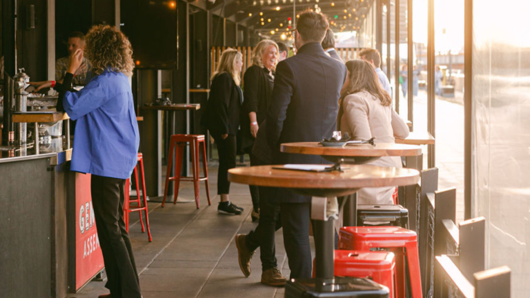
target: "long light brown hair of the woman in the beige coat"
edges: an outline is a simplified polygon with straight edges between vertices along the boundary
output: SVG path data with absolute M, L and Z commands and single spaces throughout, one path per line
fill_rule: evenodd
M 349 75 L 340 91 L 337 125 L 340 125 L 340 119 L 344 112 L 342 102 L 344 97 L 348 95 L 366 91 L 379 99 L 382 106 L 391 105 L 392 99 L 389 93 L 382 88 L 379 77 L 377 77 L 377 73 L 375 73 L 373 66 L 369 62 L 360 59 L 350 60 L 346 62 L 346 69 L 348 69 Z

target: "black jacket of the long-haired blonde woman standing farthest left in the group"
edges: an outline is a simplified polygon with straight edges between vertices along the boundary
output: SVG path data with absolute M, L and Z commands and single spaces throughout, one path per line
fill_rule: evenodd
M 237 135 L 242 101 L 242 91 L 232 76 L 228 72 L 217 74 L 212 81 L 206 112 L 201 121 L 214 139 L 225 134 Z

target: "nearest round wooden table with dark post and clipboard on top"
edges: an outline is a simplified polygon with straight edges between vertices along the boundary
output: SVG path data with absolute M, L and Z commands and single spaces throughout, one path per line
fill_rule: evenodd
M 337 195 L 349 195 L 359 188 L 406 186 L 418 183 L 420 172 L 408 168 L 384 168 L 351 165 L 342 171 L 310 172 L 293 168 L 326 168 L 325 165 L 252 166 L 228 170 L 228 181 L 288 188 L 303 195 L 311 195 L 311 218 L 322 211 L 315 220 L 315 276 L 320 284 L 333 284 L 333 219 L 338 212 Z M 315 198 L 327 197 L 327 199 Z M 333 197 L 333 198 L 332 198 Z M 327 212 L 331 208 L 332 212 Z M 326 213 L 327 212 L 327 213 Z M 335 212 L 335 214 L 331 214 Z M 320 220 L 318 220 L 320 219 Z

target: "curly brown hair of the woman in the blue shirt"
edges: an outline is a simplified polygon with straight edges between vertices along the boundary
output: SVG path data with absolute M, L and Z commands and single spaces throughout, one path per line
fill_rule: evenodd
M 135 62 L 129 39 L 115 27 L 93 26 L 86 34 L 85 55 L 92 63 L 92 71 L 101 74 L 106 69 L 133 75 Z

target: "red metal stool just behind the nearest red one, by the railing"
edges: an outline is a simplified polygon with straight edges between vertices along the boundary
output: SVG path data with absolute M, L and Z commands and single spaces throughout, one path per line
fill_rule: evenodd
M 409 265 L 409 280 L 413 298 L 422 298 L 422 279 L 418 255 L 418 236 L 411 230 L 396 226 L 340 228 L 339 249 L 370 250 L 390 248 L 396 257 L 396 293 L 405 297 L 405 260 Z

